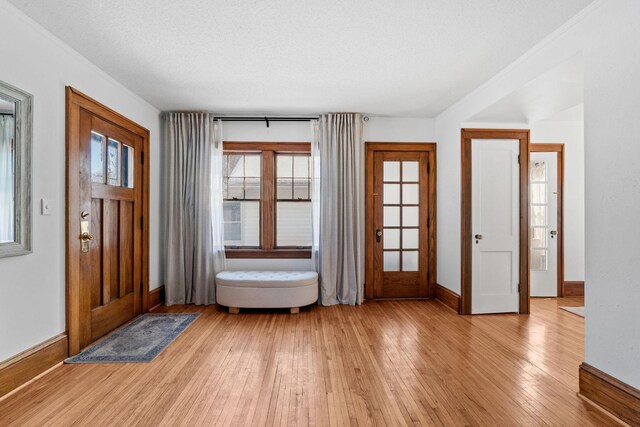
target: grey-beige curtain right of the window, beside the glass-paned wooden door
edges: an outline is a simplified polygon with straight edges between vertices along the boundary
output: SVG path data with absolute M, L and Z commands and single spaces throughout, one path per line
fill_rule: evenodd
M 362 303 L 364 291 L 362 128 L 361 114 L 327 114 L 321 116 L 318 123 L 317 151 L 314 150 L 314 152 L 319 156 L 320 166 L 320 203 L 317 204 L 319 210 L 317 268 L 320 276 L 322 305 Z

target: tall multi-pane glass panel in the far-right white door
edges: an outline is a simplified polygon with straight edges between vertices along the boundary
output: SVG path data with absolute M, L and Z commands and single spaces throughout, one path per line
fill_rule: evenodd
M 531 162 L 531 269 L 547 271 L 549 235 L 549 180 L 546 162 Z

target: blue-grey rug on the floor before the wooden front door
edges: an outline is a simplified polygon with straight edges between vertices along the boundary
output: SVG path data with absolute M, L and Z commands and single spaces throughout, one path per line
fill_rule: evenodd
M 197 313 L 143 314 L 64 362 L 151 362 L 198 316 Z

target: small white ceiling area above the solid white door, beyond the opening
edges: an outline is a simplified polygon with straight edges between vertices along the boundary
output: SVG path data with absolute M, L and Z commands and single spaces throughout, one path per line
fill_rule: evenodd
M 469 121 L 535 123 L 583 102 L 584 65 L 582 57 L 576 56 L 475 114 Z

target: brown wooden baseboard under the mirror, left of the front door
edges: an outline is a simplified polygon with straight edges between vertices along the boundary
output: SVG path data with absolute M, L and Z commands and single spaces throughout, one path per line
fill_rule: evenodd
M 65 332 L 0 363 L 0 397 L 60 363 L 68 354 Z

